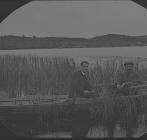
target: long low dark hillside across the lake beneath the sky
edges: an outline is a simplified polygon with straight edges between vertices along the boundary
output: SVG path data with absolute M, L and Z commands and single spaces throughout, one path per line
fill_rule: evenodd
M 26 36 L 1 36 L 0 49 L 50 49 L 50 48 L 98 48 L 121 46 L 146 46 L 147 35 L 127 36 L 108 34 L 86 38 L 67 37 L 26 37 Z

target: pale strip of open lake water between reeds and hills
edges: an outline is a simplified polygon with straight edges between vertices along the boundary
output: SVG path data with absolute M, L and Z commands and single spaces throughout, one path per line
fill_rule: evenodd
M 1 50 L 0 55 L 37 55 L 37 56 L 122 56 L 147 58 L 147 46 L 111 48 L 67 48 L 67 49 L 26 49 Z

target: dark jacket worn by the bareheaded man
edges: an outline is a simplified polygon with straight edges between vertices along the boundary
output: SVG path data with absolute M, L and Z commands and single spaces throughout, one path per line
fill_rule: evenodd
M 70 97 L 82 96 L 84 90 L 91 90 L 91 86 L 86 76 L 81 71 L 77 71 L 71 80 Z

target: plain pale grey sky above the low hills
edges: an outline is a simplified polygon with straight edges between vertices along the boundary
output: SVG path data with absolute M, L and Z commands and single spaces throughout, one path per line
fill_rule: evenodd
M 0 25 L 1 35 L 147 35 L 147 10 L 131 1 L 34 1 Z

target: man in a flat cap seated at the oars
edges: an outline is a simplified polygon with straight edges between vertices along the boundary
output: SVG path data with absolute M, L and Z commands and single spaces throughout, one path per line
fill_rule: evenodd
M 131 86 L 143 84 L 141 76 L 134 71 L 134 63 L 127 61 L 124 63 L 125 71 L 118 76 L 117 79 L 117 93 L 123 95 L 136 95 L 138 89 L 131 89 Z

